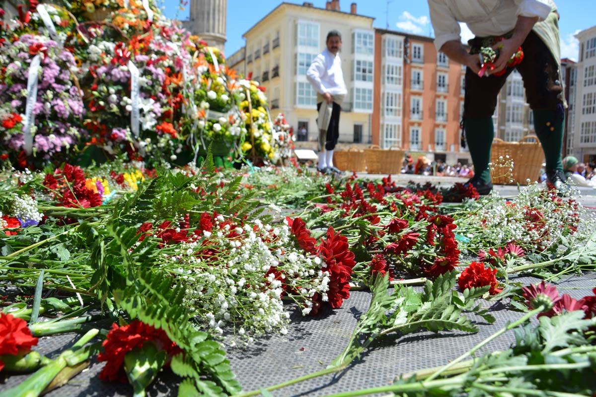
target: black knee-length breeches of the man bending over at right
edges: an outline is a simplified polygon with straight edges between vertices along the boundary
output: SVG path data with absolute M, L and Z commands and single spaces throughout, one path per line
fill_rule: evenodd
M 468 43 L 470 54 L 480 52 L 482 37 Z M 534 32 L 527 35 L 522 44 L 524 57 L 516 66 L 522 75 L 526 99 L 532 110 L 557 110 L 563 91 L 558 74 L 557 61 L 547 45 Z M 491 117 L 495 112 L 496 99 L 513 68 L 507 68 L 503 76 L 478 77 L 470 68 L 465 70 L 464 118 Z

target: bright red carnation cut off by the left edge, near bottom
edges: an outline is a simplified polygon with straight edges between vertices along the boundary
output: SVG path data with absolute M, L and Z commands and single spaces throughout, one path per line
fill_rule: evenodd
M 12 314 L 0 313 L 0 356 L 25 355 L 36 346 L 38 339 L 31 335 L 27 322 Z M 0 360 L 0 371 L 4 362 Z

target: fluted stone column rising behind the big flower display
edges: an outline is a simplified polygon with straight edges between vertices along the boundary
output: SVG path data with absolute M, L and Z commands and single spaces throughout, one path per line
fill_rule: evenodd
M 226 42 L 227 0 L 191 0 L 190 18 L 182 21 L 193 35 L 201 37 L 210 46 L 224 51 Z

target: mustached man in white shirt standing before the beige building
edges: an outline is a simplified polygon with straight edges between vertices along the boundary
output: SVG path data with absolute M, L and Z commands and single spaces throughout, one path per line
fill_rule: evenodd
M 316 90 L 316 110 L 319 111 L 319 164 L 322 173 L 341 172 L 333 166 L 333 151 L 339 139 L 339 116 L 347 93 L 343 80 L 342 35 L 337 30 L 327 33 L 327 49 L 317 55 L 306 71 L 306 78 Z

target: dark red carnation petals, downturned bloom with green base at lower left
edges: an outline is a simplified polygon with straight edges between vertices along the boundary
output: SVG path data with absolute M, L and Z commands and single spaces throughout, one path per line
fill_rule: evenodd
M 181 349 L 170 340 L 163 330 L 156 329 L 139 320 L 134 320 L 122 327 L 116 323 L 112 324 L 112 328 L 103 342 L 104 351 L 97 356 L 98 361 L 107 361 L 101 370 L 100 379 L 126 382 L 123 368 L 125 355 L 132 349 L 142 348 L 147 342 L 154 343 L 157 349 L 166 351 L 168 357 L 166 364 L 174 355 L 181 352 Z

